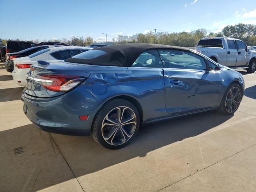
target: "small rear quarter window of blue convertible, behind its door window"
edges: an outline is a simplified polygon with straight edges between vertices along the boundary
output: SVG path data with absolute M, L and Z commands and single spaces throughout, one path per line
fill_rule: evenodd
M 156 50 L 148 50 L 138 56 L 132 67 L 162 68 L 164 66 L 158 52 Z

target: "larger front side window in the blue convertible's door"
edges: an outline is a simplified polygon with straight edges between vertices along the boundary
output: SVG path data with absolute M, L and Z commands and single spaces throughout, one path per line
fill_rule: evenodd
M 158 50 L 165 68 L 206 70 L 203 57 L 181 50 Z

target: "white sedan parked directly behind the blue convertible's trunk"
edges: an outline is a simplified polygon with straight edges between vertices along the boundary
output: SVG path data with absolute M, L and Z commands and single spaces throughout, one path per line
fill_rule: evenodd
M 38 61 L 63 61 L 91 49 L 92 48 L 89 47 L 78 46 L 50 46 L 49 48 L 38 51 L 27 57 L 16 58 L 14 59 L 14 70 L 12 71 L 12 78 L 18 85 L 26 86 L 26 74 L 30 70 L 30 65 L 38 64 Z

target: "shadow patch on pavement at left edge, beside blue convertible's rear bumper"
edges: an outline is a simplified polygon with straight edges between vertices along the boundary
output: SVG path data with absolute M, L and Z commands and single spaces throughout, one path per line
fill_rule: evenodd
M 22 87 L 0 89 L 0 102 L 20 100 Z

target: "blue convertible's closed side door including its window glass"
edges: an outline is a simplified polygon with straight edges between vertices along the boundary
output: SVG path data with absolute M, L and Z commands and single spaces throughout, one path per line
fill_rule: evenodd
M 220 104 L 218 72 L 203 57 L 180 50 L 158 50 L 164 62 L 165 105 L 169 114 L 186 114 Z

